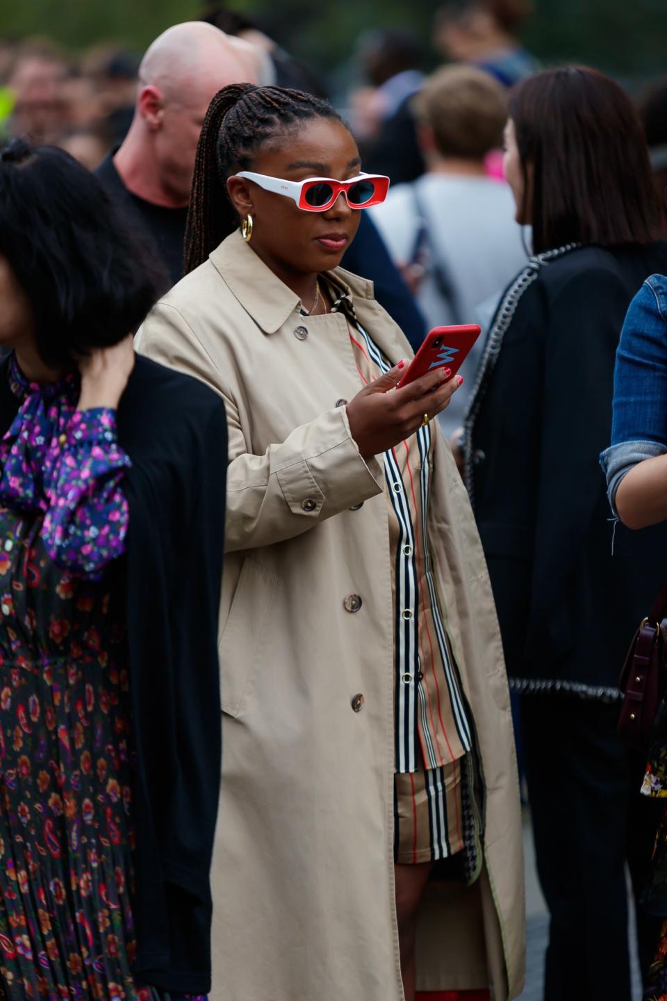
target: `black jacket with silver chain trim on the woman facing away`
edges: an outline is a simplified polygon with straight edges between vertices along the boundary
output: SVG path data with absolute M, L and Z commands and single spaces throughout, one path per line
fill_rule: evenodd
M 471 403 L 475 515 L 510 677 L 611 695 L 667 577 L 667 527 L 613 526 L 599 454 L 631 298 L 667 242 L 571 250 L 521 296 Z M 544 684 L 542 684 L 544 683 Z

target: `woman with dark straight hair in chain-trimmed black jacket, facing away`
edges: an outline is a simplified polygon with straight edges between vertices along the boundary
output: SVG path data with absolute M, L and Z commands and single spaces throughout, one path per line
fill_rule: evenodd
M 667 533 L 608 524 L 616 345 L 667 266 L 630 100 L 585 68 L 512 93 L 505 170 L 534 256 L 502 296 L 473 390 L 465 471 L 511 684 L 521 694 L 537 864 L 551 916 L 547 1001 L 630 1001 L 625 862 L 639 892 L 655 811 L 616 738 L 618 677 L 664 579 Z M 639 915 L 643 969 L 656 923 Z

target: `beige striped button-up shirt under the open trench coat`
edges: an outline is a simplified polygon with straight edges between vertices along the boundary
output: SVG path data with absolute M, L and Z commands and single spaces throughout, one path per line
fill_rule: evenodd
M 391 362 L 359 324 L 348 296 L 344 312 L 355 363 L 366 385 Z M 431 424 L 385 452 L 389 541 L 394 597 L 396 771 L 441 768 L 471 750 L 470 726 L 428 546 L 433 438 Z M 422 765 L 423 763 L 423 765 Z

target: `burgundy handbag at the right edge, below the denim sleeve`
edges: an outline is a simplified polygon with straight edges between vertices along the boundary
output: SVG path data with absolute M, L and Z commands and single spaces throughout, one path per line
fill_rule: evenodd
M 667 694 L 665 616 L 667 584 L 635 633 L 618 683 L 623 693 L 618 736 L 642 750 L 649 747 L 655 718 Z

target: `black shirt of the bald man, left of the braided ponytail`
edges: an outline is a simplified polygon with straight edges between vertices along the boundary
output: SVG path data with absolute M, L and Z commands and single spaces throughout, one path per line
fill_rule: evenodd
M 165 205 L 155 205 L 133 194 L 125 187 L 123 180 L 114 166 L 113 158 L 116 150 L 112 150 L 100 163 L 95 171 L 107 190 L 107 194 L 115 205 L 124 212 L 127 222 L 135 229 L 145 233 L 150 241 L 150 250 L 154 260 L 164 266 L 164 279 L 160 293 L 168 291 L 183 277 L 183 243 L 185 240 L 185 223 L 188 217 L 185 208 L 167 208 Z

